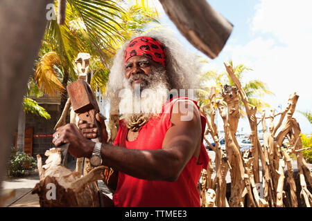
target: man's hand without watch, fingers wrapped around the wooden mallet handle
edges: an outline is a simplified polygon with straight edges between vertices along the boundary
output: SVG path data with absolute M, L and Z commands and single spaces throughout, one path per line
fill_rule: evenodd
M 100 131 L 102 142 L 107 142 L 107 131 L 105 126 L 105 119 L 100 115 L 96 114 L 96 120 L 101 124 L 102 131 Z M 78 128 L 83 133 L 83 136 L 88 139 L 96 138 L 96 135 L 98 133 L 98 128 L 94 124 L 88 124 L 87 122 L 84 122 L 83 120 L 79 120 L 78 122 Z

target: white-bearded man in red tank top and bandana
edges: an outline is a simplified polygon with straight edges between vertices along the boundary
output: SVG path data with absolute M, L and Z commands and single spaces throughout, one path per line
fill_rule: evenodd
M 53 135 L 56 146 L 70 143 L 75 157 L 91 157 L 100 146 L 103 165 L 118 178 L 116 186 L 114 179 L 108 184 L 116 188 L 114 206 L 200 206 L 197 184 L 209 161 L 202 144 L 205 117 L 192 99 L 169 93 L 196 88 L 198 66 L 165 35 L 154 30 L 127 42 L 116 54 L 107 96 L 115 104 L 111 110 L 119 107 L 123 119 L 114 145 L 86 139 L 96 136 L 96 128 L 84 122 L 80 130 L 67 124 Z M 107 140 L 103 119 L 97 119 Z

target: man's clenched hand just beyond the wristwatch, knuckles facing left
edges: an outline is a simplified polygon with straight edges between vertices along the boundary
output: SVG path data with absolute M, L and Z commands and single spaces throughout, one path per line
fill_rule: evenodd
M 69 145 L 69 153 L 74 157 L 91 157 L 95 143 L 84 137 L 75 124 L 66 124 L 56 129 L 53 134 L 53 144 L 60 146 Z

